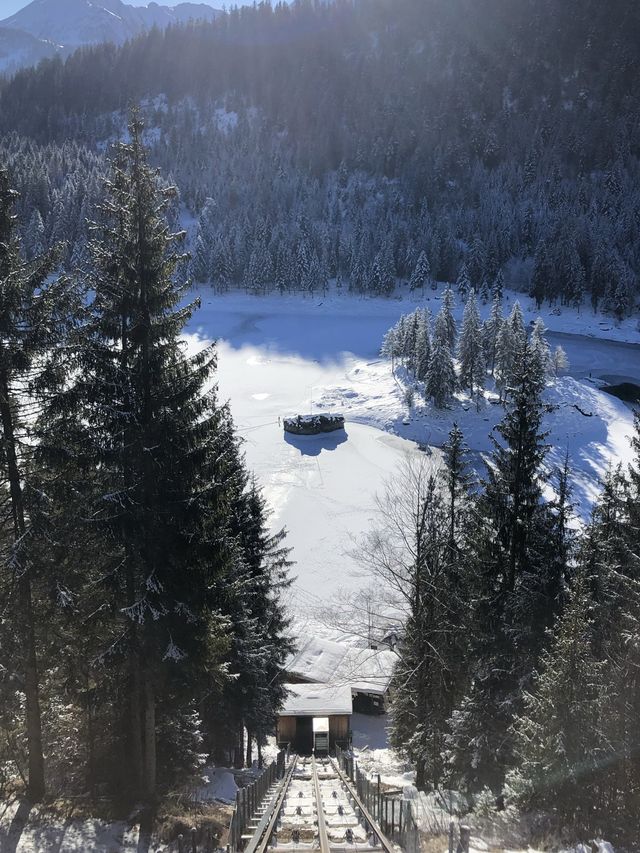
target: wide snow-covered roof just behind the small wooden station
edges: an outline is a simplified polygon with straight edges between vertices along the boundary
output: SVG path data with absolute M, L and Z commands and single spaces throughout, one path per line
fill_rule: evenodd
M 299 638 L 286 670 L 304 681 L 317 684 L 348 685 L 356 693 L 386 693 L 393 667 L 394 652 L 362 649 L 322 637 Z

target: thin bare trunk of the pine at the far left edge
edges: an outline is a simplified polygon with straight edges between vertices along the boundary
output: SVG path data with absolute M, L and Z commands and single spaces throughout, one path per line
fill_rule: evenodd
M 4 455 L 13 516 L 14 542 L 17 544 L 26 532 L 25 512 L 16 451 L 13 413 L 6 373 L 0 377 L 0 417 L 4 438 Z M 26 705 L 27 743 L 29 750 L 29 797 L 41 800 L 45 792 L 44 755 L 42 752 L 42 721 L 40 718 L 40 684 L 36 653 L 35 624 L 31 578 L 27 566 L 21 566 L 18 582 L 19 621 L 22 622 L 24 692 Z

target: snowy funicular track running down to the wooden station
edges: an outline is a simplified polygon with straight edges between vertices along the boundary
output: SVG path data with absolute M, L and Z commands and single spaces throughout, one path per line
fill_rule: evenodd
M 396 853 L 333 758 L 294 757 L 245 853 Z

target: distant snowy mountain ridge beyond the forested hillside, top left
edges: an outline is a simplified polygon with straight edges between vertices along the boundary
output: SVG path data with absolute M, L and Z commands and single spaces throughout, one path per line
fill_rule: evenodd
M 51 43 L 65 52 L 84 44 L 107 41 L 121 44 L 154 26 L 162 29 L 190 20 L 210 21 L 219 14 L 204 3 L 176 6 L 149 3 L 134 7 L 122 0 L 33 0 L 15 15 L 0 21 L 3 28 L 0 50 L 4 48 L 11 57 L 15 55 L 15 64 L 24 66 L 52 55 L 55 48 Z M 15 32 L 14 39 L 10 31 Z M 29 43 L 28 36 L 36 43 Z

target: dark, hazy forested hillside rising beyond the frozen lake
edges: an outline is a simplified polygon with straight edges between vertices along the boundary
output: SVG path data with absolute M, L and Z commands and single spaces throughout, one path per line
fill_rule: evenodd
M 32 140 L 4 142 L 38 199 L 32 242 L 56 205 L 82 231 L 93 201 L 91 181 L 62 181 L 60 146 L 86 163 L 142 102 L 152 157 L 199 217 L 199 280 L 384 294 L 424 251 L 437 280 L 486 295 L 503 271 L 540 301 L 623 316 L 640 267 L 639 36 L 625 2 L 261 5 L 23 71 L 0 126 Z

